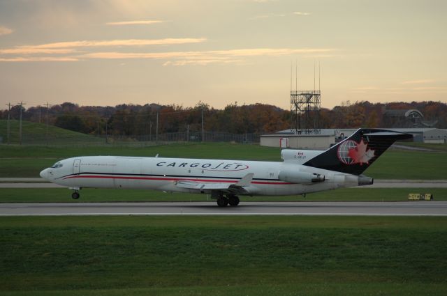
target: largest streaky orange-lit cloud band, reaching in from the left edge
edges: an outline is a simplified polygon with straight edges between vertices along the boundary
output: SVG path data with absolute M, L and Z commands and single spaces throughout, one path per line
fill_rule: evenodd
M 23 45 L 0 49 L 0 61 L 86 61 L 89 59 L 155 59 L 166 60 L 163 65 L 208 65 L 211 63 L 243 63 L 256 56 L 330 56 L 337 49 L 327 48 L 248 48 L 208 51 L 157 52 L 152 45 L 183 45 L 205 42 L 206 38 L 78 40 Z M 107 50 L 101 47 L 108 48 Z M 120 50 L 126 47 L 126 50 Z M 129 50 L 131 48 L 134 50 Z M 112 50 L 109 50 L 112 49 Z M 137 49 L 137 50 L 135 50 Z

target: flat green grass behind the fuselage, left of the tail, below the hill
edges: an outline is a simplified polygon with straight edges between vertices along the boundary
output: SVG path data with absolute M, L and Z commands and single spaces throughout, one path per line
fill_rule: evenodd
M 88 155 L 189 157 L 281 161 L 279 148 L 233 143 L 173 143 L 147 147 L 0 146 L 0 178 L 34 177 L 59 159 Z

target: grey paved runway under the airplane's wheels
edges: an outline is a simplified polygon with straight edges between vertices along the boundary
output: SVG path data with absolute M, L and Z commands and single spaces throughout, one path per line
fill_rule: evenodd
M 0 204 L 0 216 L 83 215 L 447 216 L 447 201 L 241 202 L 226 208 L 215 202 Z

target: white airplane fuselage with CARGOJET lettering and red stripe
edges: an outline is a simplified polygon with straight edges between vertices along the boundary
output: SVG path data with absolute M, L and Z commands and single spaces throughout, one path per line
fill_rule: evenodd
M 199 183 L 237 183 L 247 173 L 254 173 L 251 185 L 244 187 L 254 196 L 306 194 L 358 185 L 358 176 L 286 162 L 258 162 L 228 159 L 179 159 L 163 157 L 85 156 L 64 159 L 59 167 L 41 172 L 51 182 L 72 189 L 122 188 L 155 189 L 166 192 L 210 194 L 212 189 L 189 189 L 179 181 Z M 299 171 L 325 176 L 322 182 L 297 184 L 279 180 L 281 171 Z M 337 176 L 337 178 L 336 178 Z

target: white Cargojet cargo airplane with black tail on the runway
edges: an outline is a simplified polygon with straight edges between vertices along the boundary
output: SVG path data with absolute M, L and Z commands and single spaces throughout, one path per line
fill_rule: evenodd
M 82 188 L 154 189 L 211 194 L 238 205 L 241 195 L 284 196 L 372 185 L 362 173 L 397 140 L 411 134 L 360 129 L 328 150 L 282 150 L 284 162 L 163 157 L 83 156 L 61 160 L 41 177 L 74 192 Z

